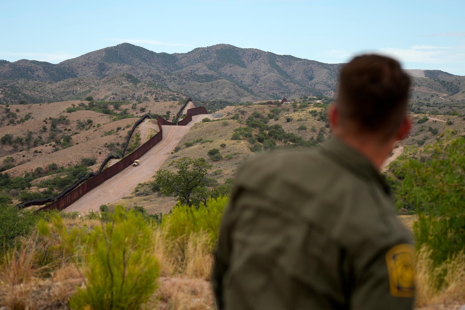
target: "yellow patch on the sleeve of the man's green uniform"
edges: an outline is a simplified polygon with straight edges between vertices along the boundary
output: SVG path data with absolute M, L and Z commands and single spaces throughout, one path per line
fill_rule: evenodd
M 394 297 L 415 294 L 415 251 L 410 244 L 399 244 L 386 253 L 389 288 Z

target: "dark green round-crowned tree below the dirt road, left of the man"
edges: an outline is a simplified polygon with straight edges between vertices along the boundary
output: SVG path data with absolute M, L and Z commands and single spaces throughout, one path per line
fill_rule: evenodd
M 160 192 L 179 198 L 181 204 L 198 205 L 206 194 L 206 174 L 212 165 L 205 158 L 181 158 L 169 164 L 177 169 L 172 172 L 166 169 L 157 171 L 155 183 L 161 185 Z

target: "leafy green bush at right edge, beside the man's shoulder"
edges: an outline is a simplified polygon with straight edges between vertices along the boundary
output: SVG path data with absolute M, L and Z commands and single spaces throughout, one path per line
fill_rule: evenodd
M 417 247 L 432 249 L 436 265 L 465 248 L 465 139 L 445 143 L 426 147 L 431 158 L 424 162 L 411 158 L 404 163 L 397 192 L 417 207 Z

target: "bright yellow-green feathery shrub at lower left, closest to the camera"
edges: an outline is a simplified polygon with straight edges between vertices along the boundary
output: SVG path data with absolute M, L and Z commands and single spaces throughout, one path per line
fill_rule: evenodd
M 117 206 L 110 222 L 85 239 L 86 287 L 70 299 L 72 309 L 140 309 L 157 288 L 159 264 L 151 230 L 138 212 Z

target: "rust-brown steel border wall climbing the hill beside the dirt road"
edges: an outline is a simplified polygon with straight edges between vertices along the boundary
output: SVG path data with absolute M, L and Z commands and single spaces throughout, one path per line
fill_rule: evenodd
M 157 145 L 163 139 L 163 129 L 162 125 L 187 125 L 190 121 L 192 121 L 192 117 L 194 115 L 199 114 L 208 114 L 206 108 L 201 106 L 193 109 L 187 110 L 187 116 L 185 119 L 176 123 L 168 122 L 166 119 L 161 117 L 157 118 L 157 124 L 159 127 L 159 132 L 149 139 L 146 143 L 138 147 L 134 152 L 126 156 L 125 158 L 121 159 L 116 164 L 106 168 L 105 170 L 100 171 L 97 174 L 94 174 L 92 177 L 88 178 L 88 180 L 82 184 L 72 185 L 67 188 L 65 191 L 60 193 L 60 197 L 56 198 L 57 200 L 53 201 L 51 204 L 41 207 L 38 210 L 64 210 L 65 208 L 69 207 L 71 204 L 78 201 L 81 197 L 83 197 L 86 193 L 93 190 L 97 186 L 104 183 L 106 180 L 113 178 L 115 175 L 126 169 L 130 166 L 134 160 L 142 157 L 146 152 L 148 152 L 153 146 Z M 89 174 L 90 176 L 91 174 Z M 77 182 L 76 182 L 77 183 Z M 75 183 L 75 184 L 76 184 Z M 46 202 L 45 202 L 46 203 Z M 44 202 L 40 203 L 44 204 Z M 38 204 L 28 204 L 28 205 L 38 205 Z

